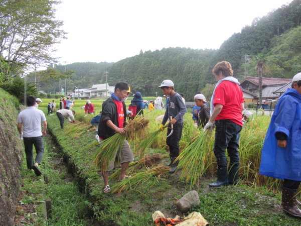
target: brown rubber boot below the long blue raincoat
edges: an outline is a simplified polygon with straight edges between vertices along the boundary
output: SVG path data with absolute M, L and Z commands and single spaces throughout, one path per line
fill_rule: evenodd
M 297 206 L 296 196 L 297 189 L 289 189 L 282 187 L 282 210 L 285 213 L 288 213 L 294 217 L 301 218 L 301 210 Z

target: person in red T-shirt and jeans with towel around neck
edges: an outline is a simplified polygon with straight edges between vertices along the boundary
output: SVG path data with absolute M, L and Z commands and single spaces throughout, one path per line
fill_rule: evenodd
M 218 83 L 211 98 L 211 118 L 204 130 L 212 129 L 215 123 L 213 152 L 217 163 L 217 180 L 209 187 L 236 184 L 239 169 L 239 134 L 242 129 L 243 97 L 239 82 L 233 77 L 231 64 L 219 62 L 213 68 Z M 229 176 L 227 169 L 227 149 L 230 157 Z

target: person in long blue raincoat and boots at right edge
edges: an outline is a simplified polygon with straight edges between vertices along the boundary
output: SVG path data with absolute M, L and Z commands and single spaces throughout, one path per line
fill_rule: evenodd
M 301 218 L 296 200 L 301 182 L 301 73 L 292 79 L 280 97 L 264 140 L 261 175 L 284 179 L 282 186 L 283 211 Z

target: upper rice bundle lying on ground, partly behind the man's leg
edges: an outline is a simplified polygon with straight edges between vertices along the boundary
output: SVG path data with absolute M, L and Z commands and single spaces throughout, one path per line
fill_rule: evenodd
M 139 161 L 132 162 L 128 165 L 125 174 L 131 175 L 132 173 L 136 172 L 137 170 L 141 169 L 142 167 L 153 166 L 159 161 L 162 160 L 162 156 L 160 154 L 155 154 L 152 156 L 145 156 L 144 158 L 140 159 Z M 117 179 L 120 175 L 121 169 L 118 169 L 112 175 L 109 176 L 109 179 Z

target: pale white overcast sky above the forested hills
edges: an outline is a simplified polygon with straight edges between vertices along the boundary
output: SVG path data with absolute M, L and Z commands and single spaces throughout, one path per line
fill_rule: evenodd
M 62 64 L 117 62 L 168 47 L 218 49 L 233 33 L 287 0 L 61 0 L 57 19 L 68 39 L 56 46 Z

